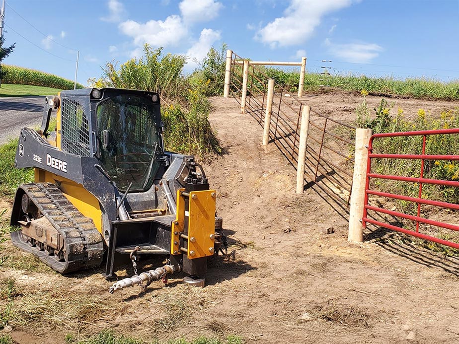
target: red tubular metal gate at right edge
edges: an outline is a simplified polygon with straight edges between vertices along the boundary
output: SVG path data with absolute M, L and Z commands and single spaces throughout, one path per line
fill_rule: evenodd
M 415 237 L 429 240 L 436 242 L 438 244 L 447 245 L 456 249 L 459 249 L 459 244 L 455 242 L 451 242 L 448 240 L 444 240 L 441 238 L 437 238 L 431 235 L 420 233 L 419 224 L 426 224 L 431 226 L 437 226 L 441 228 L 451 229 L 453 231 L 459 231 L 459 226 L 430 220 L 420 216 L 421 212 L 421 205 L 430 205 L 430 206 L 437 206 L 441 208 L 447 209 L 455 209 L 459 210 L 458 204 L 448 203 L 448 202 L 440 202 L 440 201 L 433 201 L 426 199 L 422 194 L 422 187 L 423 184 L 435 184 L 441 186 L 449 186 L 449 187 L 459 187 L 459 181 L 454 180 L 439 180 L 439 179 L 430 179 L 424 178 L 424 167 L 425 161 L 428 160 L 435 160 L 435 161 L 458 161 L 459 155 L 433 155 L 433 154 L 426 154 L 426 138 L 430 135 L 453 135 L 459 134 L 459 129 L 443 129 L 443 130 L 426 130 L 426 131 L 417 131 L 417 132 L 402 132 L 402 133 L 384 133 L 384 134 L 375 134 L 370 138 L 370 143 L 368 146 L 369 155 L 368 155 L 368 165 L 367 165 L 367 181 L 365 187 L 365 207 L 364 207 L 364 214 L 362 218 L 362 224 L 365 228 L 367 223 L 371 223 L 377 226 L 381 226 L 387 229 L 391 229 L 397 232 L 401 232 L 404 234 L 413 235 Z M 422 137 L 422 153 L 421 154 L 383 154 L 383 153 L 373 153 L 373 141 L 376 138 L 389 138 L 389 137 Z M 457 138 L 459 139 L 459 138 Z M 447 147 L 446 147 L 447 148 Z M 384 175 L 384 174 L 376 174 L 372 173 L 371 171 L 371 162 L 372 159 L 379 158 L 379 159 L 416 159 L 420 160 L 421 166 L 419 171 L 419 177 L 405 177 L 405 176 L 393 176 L 393 175 Z M 402 181 L 402 182 L 409 182 L 409 183 L 418 183 L 419 184 L 419 193 L 418 197 L 409 197 L 404 195 L 392 194 L 388 192 L 381 192 L 376 190 L 370 189 L 370 179 L 387 179 L 392 181 Z M 417 205 L 417 215 L 410 215 L 403 212 L 398 212 L 394 210 L 384 209 L 381 206 L 372 206 L 369 205 L 369 196 L 375 195 L 380 196 L 392 200 L 402 200 L 406 202 L 413 202 Z M 401 217 L 404 219 L 415 221 L 416 229 L 410 230 L 403 227 L 399 227 L 390 223 L 382 222 L 376 220 L 374 218 L 369 218 L 368 211 L 374 211 L 377 214 L 386 214 L 395 217 Z

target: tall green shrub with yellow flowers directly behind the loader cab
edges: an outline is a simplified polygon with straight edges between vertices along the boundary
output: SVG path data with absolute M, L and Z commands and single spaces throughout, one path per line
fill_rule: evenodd
M 131 59 L 119 68 L 109 62 L 102 76 L 88 80 L 95 87 L 135 88 L 158 92 L 162 99 L 162 119 L 166 149 L 205 158 L 221 153 L 219 141 L 209 123 L 210 103 L 206 93 L 210 80 L 194 80 L 183 75 L 186 57 L 161 55 L 162 48 L 144 46 L 144 56 Z

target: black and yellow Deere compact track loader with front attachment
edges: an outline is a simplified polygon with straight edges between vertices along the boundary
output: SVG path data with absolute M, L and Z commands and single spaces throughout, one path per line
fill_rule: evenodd
M 48 133 L 53 110 L 56 130 Z M 13 244 L 62 274 L 105 262 L 112 277 L 123 257 L 135 270 L 140 255 L 167 257 L 112 292 L 176 271 L 203 277 L 208 257 L 226 246 L 216 192 L 193 156 L 164 150 L 162 129 L 154 92 L 85 88 L 46 97 L 40 130 L 19 136 L 15 165 L 34 167 L 35 181 L 17 189 Z

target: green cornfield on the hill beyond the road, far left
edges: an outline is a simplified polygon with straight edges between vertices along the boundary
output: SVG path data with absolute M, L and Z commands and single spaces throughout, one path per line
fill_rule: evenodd
M 1 66 L 1 69 L 5 72 L 5 75 L 1 80 L 4 83 L 43 86 L 58 89 L 74 88 L 74 81 L 54 74 L 45 73 L 40 70 L 9 65 L 3 65 Z M 76 83 L 76 88 L 83 87 L 83 85 Z

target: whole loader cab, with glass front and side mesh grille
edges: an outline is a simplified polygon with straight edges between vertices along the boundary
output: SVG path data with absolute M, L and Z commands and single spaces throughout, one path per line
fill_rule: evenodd
M 157 93 L 114 88 L 63 91 L 58 117 L 58 147 L 97 158 L 120 192 L 131 183 L 129 192 L 151 188 L 164 152 Z

